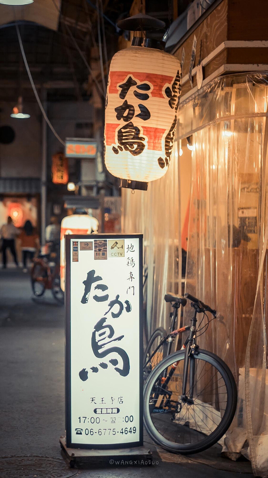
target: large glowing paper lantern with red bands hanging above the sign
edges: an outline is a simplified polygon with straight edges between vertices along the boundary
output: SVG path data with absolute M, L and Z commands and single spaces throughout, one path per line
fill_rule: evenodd
M 153 48 L 153 46 L 157 48 Z M 121 186 L 147 189 L 169 166 L 181 90 L 179 60 L 165 43 L 134 37 L 111 61 L 105 109 L 105 164 Z M 136 187 L 135 187 L 136 186 Z

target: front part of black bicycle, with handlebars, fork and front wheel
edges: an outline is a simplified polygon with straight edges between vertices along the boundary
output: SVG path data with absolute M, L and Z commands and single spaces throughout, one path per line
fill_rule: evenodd
M 223 360 L 196 343 L 200 332 L 205 333 L 216 319 L 216 310 L 193 295 L 185 296 L 194 315 L 190 325 L 169 336 L 186 331 L 189 335 L 183 349 L 166 356 L 150 373 L 144 389 L 144 425 L 156 444 L 171 452 L 191 454 L 206 450 L 225 434 L 236 411 L 237 387 Z M 173 296 L 174 303 L 180 299 Z M 206 312 L 213 318 L 209 320 Z M 196 316 L 201 313 L 196 328 Z M 207 323 L 201 327 L 205 316 Z

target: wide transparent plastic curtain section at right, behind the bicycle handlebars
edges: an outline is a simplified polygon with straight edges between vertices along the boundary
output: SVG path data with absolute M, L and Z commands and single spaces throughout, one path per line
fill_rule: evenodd
M 186 292 L 216 308 L 199 345 L 237 382 L 237 413 L 224 451 L 268 477 L 268 75 L 216 79 L 179 110 L 192 135 Z M 184 321 L 191 311 L 185 308 Z

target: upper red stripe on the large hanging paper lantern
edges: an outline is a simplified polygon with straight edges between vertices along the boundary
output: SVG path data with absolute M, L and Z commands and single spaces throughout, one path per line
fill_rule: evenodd
M 171 84 L 174 80 L 173 76 L 159 75 L 159 73 L 144 73 L 144 72 L 132 72 L 132 71 L 110 71 L 110 84 L 108 92 L 111 94 L 118 94 L 121 91 L 121 88 L 118 85 L 124 83 L 124 81 L 131 76 L 134 80 L 138 82 L 148 81 L 154 85 L 151 93 L 152 97 L 155 98 L 166 98 L 162 91 L 163 87 L 168 83 Z M 133 87 L 134 88 L 134 87 Z

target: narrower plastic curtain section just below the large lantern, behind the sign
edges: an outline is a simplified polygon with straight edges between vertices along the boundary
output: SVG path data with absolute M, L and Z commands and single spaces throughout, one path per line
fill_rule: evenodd
M 177 143 L 163 178 L 147 191 L 122 189 L 122 232 L 144 234 L 144 339 L 170 324 L 166 292 L 181 292 L 181 235 Z

